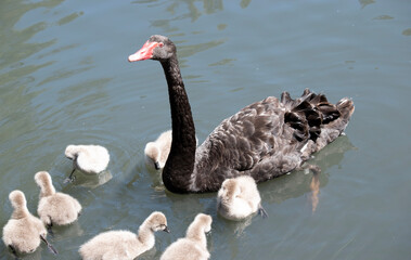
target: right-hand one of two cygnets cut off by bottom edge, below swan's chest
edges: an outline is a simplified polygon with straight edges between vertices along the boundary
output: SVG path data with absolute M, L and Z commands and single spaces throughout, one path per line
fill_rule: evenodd
M 213 219 L 208 214 L 198 213 L 189 225 L 185 237 L 179 238 L 164 251 L 160 260 L 206 260 L 210 255 L 207 249 L 205 233 L 211 230 Z

